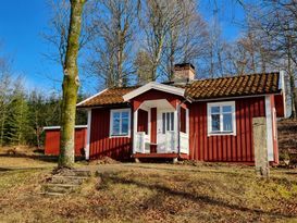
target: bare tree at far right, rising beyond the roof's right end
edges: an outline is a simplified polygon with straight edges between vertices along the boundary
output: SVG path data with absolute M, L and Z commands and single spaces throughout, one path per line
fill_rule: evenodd
M 249 13 L 251 28 L 261 30 L 261 39 L 267 42 L 267 52 L 275 54 L 270 60 L 273 67 L 283 69 L 289 79 L 292 117 L 297 117 L 296 72 L 297 65 L 297 2 L 295 0 L 262 1 Z M 262 67 L 265 69 L 265 67 Z

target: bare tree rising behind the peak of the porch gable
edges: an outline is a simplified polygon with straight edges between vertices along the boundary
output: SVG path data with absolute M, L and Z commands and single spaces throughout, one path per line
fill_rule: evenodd
M 174 36 L 177 30 L 174 29 L 181 25 L 185 17 L 184 7 L 184 1 L 178 0 L 146 0 L 140 25 L 144 28 L 145 36 L 143 48 L 149 54 L 151 64 L 148 82 L 158 78 L 158 69 L 170 33 L 171 45 L 175 42 Z

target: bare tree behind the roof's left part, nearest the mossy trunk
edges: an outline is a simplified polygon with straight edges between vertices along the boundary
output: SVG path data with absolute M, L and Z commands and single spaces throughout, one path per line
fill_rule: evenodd
M 137 8 L 138 0 L 99 0 L 102 13 L 94 20 L 97 38 L 88 66 L 107 87 L 125 86 L 133 73 Z

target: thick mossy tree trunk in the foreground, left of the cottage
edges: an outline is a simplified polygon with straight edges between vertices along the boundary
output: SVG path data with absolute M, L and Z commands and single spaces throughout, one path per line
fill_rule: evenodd
M 59 168 L 74 164 L 74 127 L 79 86 L 77 57 L 85 0 L 71 0 L 70 29 L 64 63 Z

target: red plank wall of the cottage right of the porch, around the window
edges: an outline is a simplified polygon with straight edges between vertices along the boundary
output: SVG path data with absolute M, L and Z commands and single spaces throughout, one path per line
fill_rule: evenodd
M 190 159 L 253 162 L 252 117 L 265 116 L 264 97 L 236 99 L 235 104 L 236 136 L 208 136 L 207 102 L 190 104 Z

